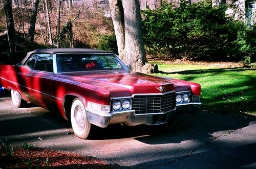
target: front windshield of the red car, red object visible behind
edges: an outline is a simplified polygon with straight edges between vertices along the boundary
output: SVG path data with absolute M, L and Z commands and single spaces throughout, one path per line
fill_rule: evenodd
M 58 73 L 95 70 L 128 70 L 114 54 L 56 54 Z

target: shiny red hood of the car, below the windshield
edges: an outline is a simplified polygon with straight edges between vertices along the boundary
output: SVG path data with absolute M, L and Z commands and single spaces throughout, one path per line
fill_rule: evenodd
M 174 84 L 167 79 L 149 76 L 134 71 L 88 71 L 57 74 L 61 78 L 79 85 L 93 85 L 98 89 L 111 92 L 112 97 L 127 96 L 136 93 L 163 93 L 175 90 Z

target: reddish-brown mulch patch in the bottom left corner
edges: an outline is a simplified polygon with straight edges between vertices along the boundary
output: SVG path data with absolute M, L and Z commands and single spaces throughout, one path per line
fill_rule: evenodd
M 0 168 L 118 168 L 116 164 L 55 150 L 14 148 L 11 159 L 2 154 Z

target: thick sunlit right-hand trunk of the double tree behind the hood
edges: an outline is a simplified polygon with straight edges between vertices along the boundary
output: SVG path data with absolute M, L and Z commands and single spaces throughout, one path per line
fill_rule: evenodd
M 125 46 L 123 61 L 132 65 L 132 70 L 142 71 L 147 62 L 142 36 L 140 4 L 137 0 L 123 0 Z

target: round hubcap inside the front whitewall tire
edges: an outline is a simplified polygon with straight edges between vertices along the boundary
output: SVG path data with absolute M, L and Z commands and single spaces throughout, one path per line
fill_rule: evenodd
M 79 105 L 75 107 L 74 118 L 77 129 L 82 131 L 86 126 L 86 111 Z

